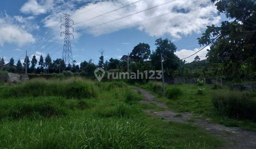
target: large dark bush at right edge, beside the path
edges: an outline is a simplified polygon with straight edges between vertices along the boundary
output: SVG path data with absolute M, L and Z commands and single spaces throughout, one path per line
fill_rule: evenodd
M 245 93 L 214 94 L 212 102 L 220 114 L 231 118 L 256 120 L 256 100 Z

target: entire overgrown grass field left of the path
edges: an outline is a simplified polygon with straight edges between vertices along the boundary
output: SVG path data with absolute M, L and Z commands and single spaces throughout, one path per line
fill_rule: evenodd
M 35 79 L 0 88 L 0 148 L 216 148 L 192 124 L 146 116 L 123 82 Z

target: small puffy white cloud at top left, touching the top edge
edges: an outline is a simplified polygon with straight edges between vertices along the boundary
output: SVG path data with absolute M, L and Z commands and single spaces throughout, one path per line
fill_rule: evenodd
M 46 13 L 47 10 L 43 6 L 39 5 L 36 0 L 28 0 L 20 9 L 22 13 L 33 15 L 40 15 Z

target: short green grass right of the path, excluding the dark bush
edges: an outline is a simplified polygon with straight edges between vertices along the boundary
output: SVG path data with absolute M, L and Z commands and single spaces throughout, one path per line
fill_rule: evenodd
M 148 90 L 159 97 L 159 102 L 167 103 L 167 106 L 177 112 L 192 112 L 198 117 L 211 118 L 211 122 L 221 123 L 229 127 L 240 127 L 251 131 L 256 131 L 256 123 L 252 120 L 238 120 L 219 114 L 213 106 L 212 97 L 230 93 L 229 88 L 213 89 L 210 85 L 198 87 L 196 84 L 166 84 L 166 98 L 162 97 L 161 82 L 149 82 L 147 84 L 137 84 L 141 88 Z M 169 88 L 179 88 L 181 94 L 168 98 Z M 199 88 L 202 90 L 198 93 Z M 176 90 L 174 92 L 177 92 Z M 236 94 L 238 91 L 233 91 Z

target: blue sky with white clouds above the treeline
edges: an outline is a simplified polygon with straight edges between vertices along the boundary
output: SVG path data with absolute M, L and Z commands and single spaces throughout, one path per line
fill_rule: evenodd
M 28 50 L 30 59 L 48 53 L 52 60 L 61 58 L 63 13 L 74 21 L 71 47 L 78 64 L 89 59 L 97 64 L 100 49 L 105 50 L 105 60 L 120 59 L 139 43 L 148 43 L 153 51 L 160 37 L 171 40 L 182 59 L 202 48 L 197 38 L 206 26 L 228 20 L 205 0 L 1 0 L 0 56 L 6 63 L 11 57 L 23 62 Z M 206 59 L 206 49 L 197 54 L 201 60 Z

